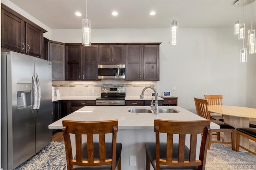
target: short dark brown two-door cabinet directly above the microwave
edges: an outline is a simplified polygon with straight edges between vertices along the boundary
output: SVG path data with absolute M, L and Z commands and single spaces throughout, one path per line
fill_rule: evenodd
M 125 64 L 124 45 L 98 45 L 99 64 Z

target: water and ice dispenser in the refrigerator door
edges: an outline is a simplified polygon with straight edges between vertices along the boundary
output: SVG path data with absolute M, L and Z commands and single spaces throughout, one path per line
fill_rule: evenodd
M 32 106 L 31 83 L 17 83 L 17 109 Z

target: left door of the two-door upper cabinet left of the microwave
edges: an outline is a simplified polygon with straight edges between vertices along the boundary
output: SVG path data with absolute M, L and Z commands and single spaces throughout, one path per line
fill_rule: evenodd
M 66 46 L 66 80 L 81 80 L 81 45 Z

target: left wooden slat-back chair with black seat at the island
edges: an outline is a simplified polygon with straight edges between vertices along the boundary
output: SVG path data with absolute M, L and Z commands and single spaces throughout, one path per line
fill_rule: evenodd
M 62 121 L 67 170 L 121 170 L 122 144 L 116 143 L 118 120 Z M 72 155 L 70 134 L 75 134 L 76 155 Z M 82 135 L 87 142 L 82 144 Z M 112 142 L 105 142 L 105 134 L 112 134 Z M 93 137 L 98 135 L 98 142 Z

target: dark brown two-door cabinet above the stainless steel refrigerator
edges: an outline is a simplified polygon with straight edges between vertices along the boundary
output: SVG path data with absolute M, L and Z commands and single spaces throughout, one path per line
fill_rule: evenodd
M 47 31 L 4 4 L 1 5 L 2 47 L 45 58 L 43 33 Z

